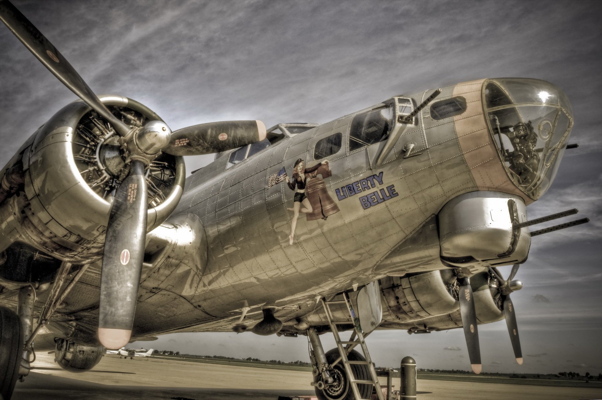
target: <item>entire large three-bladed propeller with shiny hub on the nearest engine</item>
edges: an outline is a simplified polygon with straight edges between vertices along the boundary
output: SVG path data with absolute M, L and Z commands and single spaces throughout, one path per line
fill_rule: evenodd
M 117 188 L 107 224 L 102 259 L 98 337 L 116 349 L 128 344 L 134 322 L 146 239 L 147 191 L 144 170 L 161 152 L 174 156 L 218 153 L 265 139 L 261 121 L 224 121 L 172 133 L 162 121 L 131 127 L 117 118 L 52 43 L 8 0 L 0 20 L 67 88 L 98 112 L 120 136 L 129 172 Z

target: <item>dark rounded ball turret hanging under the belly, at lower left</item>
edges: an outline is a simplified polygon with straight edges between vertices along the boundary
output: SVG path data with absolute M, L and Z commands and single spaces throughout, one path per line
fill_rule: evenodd
M 86 346 L 62 338 L 55 341 L 54 360 L 69 372 L 89 371 L 100 362 L 106 350 L 102 346 Z

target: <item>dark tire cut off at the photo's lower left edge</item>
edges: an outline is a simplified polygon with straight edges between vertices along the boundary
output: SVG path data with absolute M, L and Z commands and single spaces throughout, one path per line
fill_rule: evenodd
M 0 398 L 10 400 L 19 375 L 23 347 L 21 321 L 8 308 L 0 307 Z

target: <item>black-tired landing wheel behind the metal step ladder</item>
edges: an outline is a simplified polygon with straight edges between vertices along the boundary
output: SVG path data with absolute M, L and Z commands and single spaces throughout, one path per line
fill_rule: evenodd
M 338 348 L 334 348 L 327 351 L 326 361 L 329 364 L 332 364 L 339 356 Z M 352 350 L 349 355 L 347 355 L 347 358 L 349 361 L 365 361 L 364 356 L 355 350 Z M 372 379 L 367 365 L 352 364 L 351 369 L 356 379 L 368 381 Z M 351 382 L 349 381 L 349 377 L 347 377 L 347 372 L 345 372 L 342 361 L 338 362 L 337 365 L 330 370 L 330 375 L 335 380 L 334 384 L 325 386 L 324 389 L 315 388 L 315 395 L 318 397 L 318 400 L 355 400 Z M 362 399 L 370 398 L 372 395 L 372 387 L 373 385 L 367 384 L 358 385 L 359 395 Z

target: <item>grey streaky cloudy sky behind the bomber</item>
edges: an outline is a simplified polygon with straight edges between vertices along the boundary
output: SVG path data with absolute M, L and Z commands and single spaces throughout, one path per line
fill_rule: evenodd
M 594 1 L 14 0 L 99 94 L 134 98 L 173 130 L 220 120 L 325 123 L 393 95 L 483 77 L 549 80 L 573 103 L 553 186 L 528 208 L 592 222 L 533 238 L 512 298 L 525 364 L 503 321 L 479 327 L 483 370 L 602 372 L 602 69 Z M 1 28 L 1 26 L 0 26 Z M 0 164 L 74 95 L 0 29 Z M 187 159 L 188 171 L 207 157 Z M 556 221 L 556 223 L 558 223 Z M 550 223 L 548 225 L 554 225 Z M 506 271 L 507 273 L 507 271 Z M 368 339 L 377 365 L 470 369 L 460 330 Z M 161 350 L 308 360 L 305 338 L 166 335 Z M 327 342 L 324 347 L 334 347 Z

